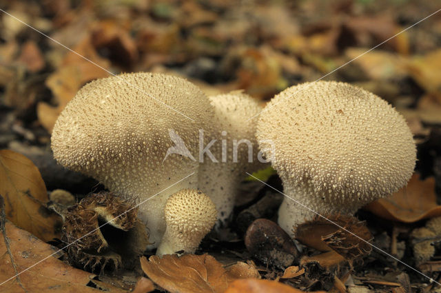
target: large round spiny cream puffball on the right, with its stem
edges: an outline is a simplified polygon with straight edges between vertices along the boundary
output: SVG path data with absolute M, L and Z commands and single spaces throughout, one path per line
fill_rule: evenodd
M 287 196 L 319 214 L 353 214 L 410 179 L 416 146 L 404 118 L 375 94 L 318 81 L 276 95 L 260 114 L 259 146 Z M 285 197 L 287 232 L 314 213 Z

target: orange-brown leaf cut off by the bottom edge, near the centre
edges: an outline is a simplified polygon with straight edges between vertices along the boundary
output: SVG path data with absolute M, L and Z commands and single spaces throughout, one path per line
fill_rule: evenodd
M 231 283 L 224 293 L 304 293 L 304 291 L 277 281 L 242 279 Z

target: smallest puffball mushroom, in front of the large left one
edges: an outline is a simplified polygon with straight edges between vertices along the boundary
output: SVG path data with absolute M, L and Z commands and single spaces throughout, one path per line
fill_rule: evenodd
M 183 250 L 194 253 L 216 222 L 216 208 L 199 190 L 185 189 L 167 199 L 164 208 L 167 229 L 156 251 L 157 255 Z

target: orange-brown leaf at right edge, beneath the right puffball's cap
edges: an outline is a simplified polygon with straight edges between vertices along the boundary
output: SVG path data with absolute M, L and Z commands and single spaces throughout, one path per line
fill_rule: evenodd
M 403 223 L 441 216 L 441 205 L 436 203 L 435 179 L 430 177 L 421 181 L 419 174 L 413 174 L 407 187 L 386 199 L 369 203 L 365 210 L 384 219 Z

